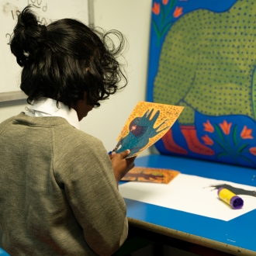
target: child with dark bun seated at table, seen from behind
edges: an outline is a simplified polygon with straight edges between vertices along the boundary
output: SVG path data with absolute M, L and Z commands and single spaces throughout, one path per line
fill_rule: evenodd
M 126 82 L 116 61 L 123 35 L 112 33 L 119 47 L 74 19 L 43 26 L 29 7 L 19 15 L 10 45 L 31 106 L 0 124 L 0 226 L 11 255 L 110 255 L 126 240 L 117 183 L 134 158 L 109 157 L 78 123 Z

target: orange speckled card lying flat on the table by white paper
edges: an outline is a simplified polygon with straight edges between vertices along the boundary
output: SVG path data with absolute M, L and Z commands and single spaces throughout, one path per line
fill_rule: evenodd
M 153 182 L 168 184 L 177 175 L 179 171 L 160 169 L 160 168 L 145 168 L 134 167 L 121 179 L 129 182 Z

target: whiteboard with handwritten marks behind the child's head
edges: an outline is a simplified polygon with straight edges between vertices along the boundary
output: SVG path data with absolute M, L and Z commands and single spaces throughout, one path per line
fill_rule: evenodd
M 16 26 L 17 16 L 27 5 L 32 5 L 41 24 L 47 25 L 57 19 L 78 19 L 85 24 L 93 23 L 93 0 L 0 0 L 0 102 L 25 99 L 19 89 L 22 68 L 16 62 L 9 47 L 9 39 Z

